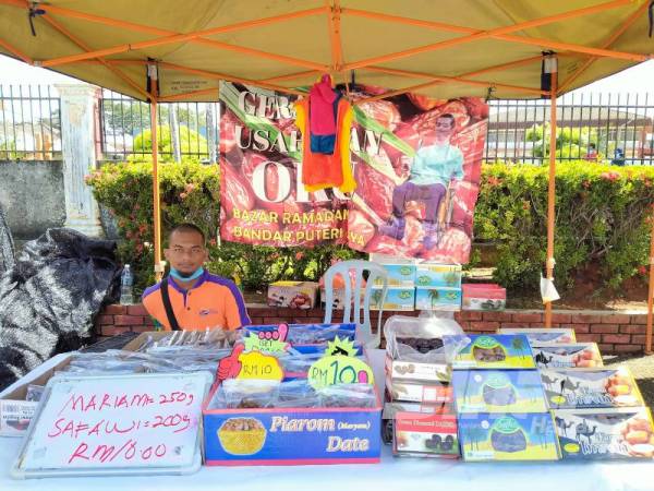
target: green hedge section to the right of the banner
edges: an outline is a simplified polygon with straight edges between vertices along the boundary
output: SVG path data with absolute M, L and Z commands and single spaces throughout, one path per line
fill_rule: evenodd
M 555 279 L 560 291 L 594 278 L 596 292 L 619 291 L 645 276 L 654 168 L 558 163 Z M 547 246 L 548 168 L 484 166 L 475 237 L 497 244 L 495 278 L 511 290 L 537 291 Z

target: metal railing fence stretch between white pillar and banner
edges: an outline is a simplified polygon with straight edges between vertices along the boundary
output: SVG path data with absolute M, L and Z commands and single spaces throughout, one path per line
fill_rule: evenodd
M 148 104 L 105 89 L 100 108 L 104 159 L 150 155 Z M 218 123 L 218 103 L 159 104 L 159 155 L 175 160 L 197 157 L 216 161 Z

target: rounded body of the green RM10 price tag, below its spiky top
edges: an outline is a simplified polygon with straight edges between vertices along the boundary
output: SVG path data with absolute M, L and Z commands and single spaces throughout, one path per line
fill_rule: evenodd
M 314 388 L 336 384 L 374 384 L 373 371 L 359 358 L 324 357 L 308 369 L 308 383 Z

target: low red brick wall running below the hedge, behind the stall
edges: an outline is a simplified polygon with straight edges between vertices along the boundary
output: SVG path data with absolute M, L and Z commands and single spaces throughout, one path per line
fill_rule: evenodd
M 295 310 L 278 309 L 261 304 L 247 306 L 253 324 L 319 323 L 323 309 Z M 338 312 L 338 311 L 337 311 Z M 417 312 L 384 312 L 384 320 L 390 315 L 417 315 Z M 373 325 L 377 312 L 371 312 Z M 342 314 L 336 313 L 334 322 Z M 536 310 L 505 310 L 501 312 L 456 312 L 455 319 L 469 333 L 493 333 L 499 327 L 542 327 L 544 312 Z M 644 350 L 644 312 L 613 312 L 560 310 L 554 311 L 553 327 L 573 327 L 579 342 L 597 343 L 603 354 L 634 352 Z M 108 306 L 96 319 L 96 331 L 100 336 L 113 336 L 128 331 L 152 331 L 153 322 L 143 306 Z

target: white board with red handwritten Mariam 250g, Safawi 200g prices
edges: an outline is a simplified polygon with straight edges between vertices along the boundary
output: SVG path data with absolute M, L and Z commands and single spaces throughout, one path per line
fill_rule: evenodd
M 14 472 L 191 466 L 209 383 L 208 373 L 53 379 Z

